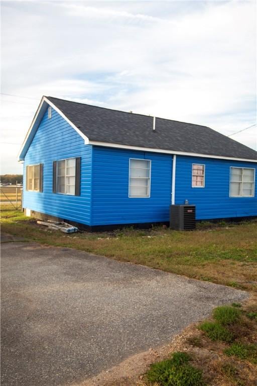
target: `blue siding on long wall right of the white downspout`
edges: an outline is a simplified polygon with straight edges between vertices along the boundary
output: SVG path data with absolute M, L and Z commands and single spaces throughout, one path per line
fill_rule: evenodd
M 205 187 L 192 187 L 192 164 L 205 164 Z M 230 166 L 255 168 L 255 197 L 229 197 Z M 177 156 L 175 204 L 189 200 L 197 219 L 257 216 L 256 163 Z

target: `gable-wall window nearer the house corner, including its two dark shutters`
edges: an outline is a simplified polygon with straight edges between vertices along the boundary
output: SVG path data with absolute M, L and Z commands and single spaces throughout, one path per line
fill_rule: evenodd
M 53 192 L 80 196 L 80 157 L 53 162 Z

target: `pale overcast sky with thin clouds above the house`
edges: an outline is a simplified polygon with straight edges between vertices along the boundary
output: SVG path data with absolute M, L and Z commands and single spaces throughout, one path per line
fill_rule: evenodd
M 3 1 L 2 173 L 42 95 L 202 124 L 256 123 L 255 1 Z M 256 149 L 256 126 L 231 138 Z M 236 156 L 236 154 L 235 154 Z

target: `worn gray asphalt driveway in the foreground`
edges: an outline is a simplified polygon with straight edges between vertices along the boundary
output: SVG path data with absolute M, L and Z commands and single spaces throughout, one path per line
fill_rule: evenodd
M 70 385 L 157 347 L 233 288 L 34 243 L 2 244 L 2 386 Z

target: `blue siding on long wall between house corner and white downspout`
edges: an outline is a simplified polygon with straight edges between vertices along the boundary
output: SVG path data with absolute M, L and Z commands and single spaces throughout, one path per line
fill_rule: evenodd
M 151 160 L 150 198 L 129 198 L 129 159 Z M 169 221 L 172 156 L 93 146 L 92 225 Z

